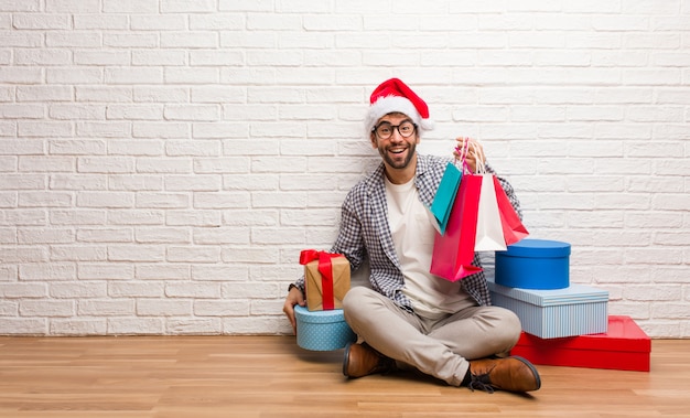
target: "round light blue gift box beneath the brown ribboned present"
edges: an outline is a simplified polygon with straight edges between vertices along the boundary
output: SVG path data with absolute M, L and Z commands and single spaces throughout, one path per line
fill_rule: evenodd
M 294 307 L 294 315 L 298 321 L 298 345 L 304 350 L 339 350 L 357 340 L 345 322 L 342 309 L 310 311 L 298 304 Z

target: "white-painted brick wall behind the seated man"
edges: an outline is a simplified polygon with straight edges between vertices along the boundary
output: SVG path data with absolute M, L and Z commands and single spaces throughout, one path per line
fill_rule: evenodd
M 392 6 L 391 6 L 392 4 Z M 399 76 L 533 237 L 690 337 L 690 1 L 0 1 L 0 334 L 285 333 Z

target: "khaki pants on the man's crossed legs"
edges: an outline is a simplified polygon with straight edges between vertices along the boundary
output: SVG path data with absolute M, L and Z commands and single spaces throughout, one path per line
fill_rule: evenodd
M 347 292 L 343 310 L 353 331 L 378 352 L 452 386 L 462 384 L 468 361 L 508 352 L 521 330 L 504 308 L 472 307 L 429 321 L 365 287 Z

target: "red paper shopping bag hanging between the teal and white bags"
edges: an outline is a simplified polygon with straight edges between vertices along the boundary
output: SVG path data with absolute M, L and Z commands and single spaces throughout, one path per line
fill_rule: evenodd
M 434 236 L 429 269 L 432 275 L 457 281 L 482 271 L 482 268 L 472 265 L 481 187 L 481 175 L 462 176 L 445 234 L 436 231 Z

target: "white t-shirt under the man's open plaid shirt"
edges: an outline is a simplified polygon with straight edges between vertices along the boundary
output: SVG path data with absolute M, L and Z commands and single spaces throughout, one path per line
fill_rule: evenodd
M 419 200 L 414 179 L 392 184 L 386 179 L 388 223 L 402 275 L 402 292 L 412 301 L 414 312 L 438 320 L 475 306 L 461 290 L 460 281 L 449 281 L 429 272 L 435 228 L 431 213 Z

